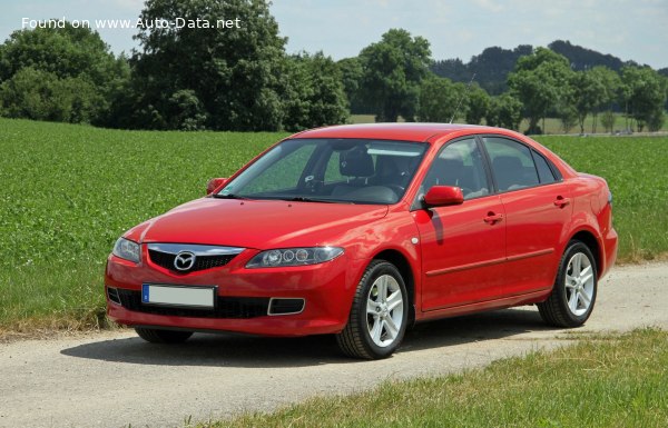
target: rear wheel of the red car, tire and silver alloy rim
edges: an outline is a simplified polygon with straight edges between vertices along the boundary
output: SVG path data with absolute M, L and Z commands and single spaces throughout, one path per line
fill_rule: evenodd
M 568 243 L 546 301 L 538 303 L 541 318 L 554 327 L 579 327 L 587 321 L 598 290 L 598 269 L 589 247 L 578 240 Z

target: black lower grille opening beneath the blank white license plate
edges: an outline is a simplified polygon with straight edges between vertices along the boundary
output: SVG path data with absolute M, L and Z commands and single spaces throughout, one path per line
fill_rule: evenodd
M 267 315 L 269 298 L 264 297 L 217 297 L 214 309 L 175 308 L 165 306 L 144 305 L 141 292 L 117 289 L 117 295 L 124 308 L 136 312 L 165 315 L 189 318 L 230 318 L 247 319 Z

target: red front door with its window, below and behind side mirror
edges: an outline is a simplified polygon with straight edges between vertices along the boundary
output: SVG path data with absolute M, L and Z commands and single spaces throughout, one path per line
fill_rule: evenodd
M 416 209 L 422 251 L 422 309 L 492 300 L 501 296 L 505 261 L 504 210 L 491 195 L 483 157 L 474 138 L 445 146 L 424 181 L 458 186 L 460 206 Z

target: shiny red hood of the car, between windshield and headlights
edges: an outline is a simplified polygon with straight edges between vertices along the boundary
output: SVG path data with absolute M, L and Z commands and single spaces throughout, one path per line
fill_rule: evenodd
M 386 213 L 387 206 L 203 198 L 140 225 L 135 233 L 141 242 L 256 249 L 336 245 L 342 233 Z

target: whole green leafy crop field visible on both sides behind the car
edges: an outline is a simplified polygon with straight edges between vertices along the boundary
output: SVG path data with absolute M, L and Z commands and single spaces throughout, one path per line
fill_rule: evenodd
M 0 119 L 0 330 L 104 322 L 114 241 L 204 195 L 285 133 L 150 132 Z M 615 195 L 625 261 L 668 251 L 668 137 L 542 137 Z

